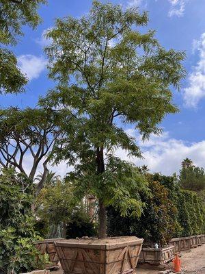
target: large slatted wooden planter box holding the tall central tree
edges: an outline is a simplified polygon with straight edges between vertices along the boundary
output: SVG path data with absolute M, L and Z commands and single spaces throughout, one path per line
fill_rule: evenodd
M 113 237 L 102 240 L 55 241 L 65 274 L 135 273 L 143 239 Z

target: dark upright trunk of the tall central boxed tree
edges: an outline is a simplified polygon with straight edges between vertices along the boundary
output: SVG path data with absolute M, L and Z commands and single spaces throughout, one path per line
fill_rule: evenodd
M 98 174 L 101 174 L 105 171 L 104 163 L 104 153 L 103 147 L 98 147 L 96 162 L 98 165 Z M 99 231 L 98 238 L 107 238 L 106 229 L 107 229 L 107 218 L 106 218 L 106 208 L 102 199 L 99 199 Z

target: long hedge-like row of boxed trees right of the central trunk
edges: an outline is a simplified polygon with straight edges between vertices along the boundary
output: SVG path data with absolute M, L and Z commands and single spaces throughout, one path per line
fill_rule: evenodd
M 108 209 L 109 236 L 131 236 L 164 244 L 171 238 L 205 234 L 205 210 L 197 193 L 182 190 L 176 176 L 148 174 L 151 197 L 143 197 L 146 209 L 140 219 L 122 218 Z

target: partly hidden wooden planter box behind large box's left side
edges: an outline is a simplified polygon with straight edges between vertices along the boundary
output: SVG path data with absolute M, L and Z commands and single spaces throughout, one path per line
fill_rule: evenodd
M 55 246 L 53 244 L 54 240 L 65 240 L 65 238 L 55 238 L 55 239 L 46 239 L 42 241 L 38 241 L 36 243 L 36 248 L 42 253 L 43 255 L 45 253 L 49 254 L 49 260 L 52 263 L 52 265 L 57 265 L 59 262 L 59 258 L 57 256 L 57 253 L 55 251 Z M 49 264 L 51 265 L 51 264 Z

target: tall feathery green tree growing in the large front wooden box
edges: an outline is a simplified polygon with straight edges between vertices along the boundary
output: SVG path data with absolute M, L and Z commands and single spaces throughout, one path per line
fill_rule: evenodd
M 106 237 L 110 203 L 121 214 L 141 212 L 142 175 L 112 155 L 118 147 L 141 155 L 123 125 L 132 124 L 145 139 L 161 133 L 166 114 L 178 112 L 169 86 L 179 88 L 184 53 L 163 49 L 153 31 L 141 34 L 147 23 L 146 12 L 94 1 L 87 16 L 57 19 L 47 34 L 53 41 L 46 48 L 50 77 L 57 86 L 42 103 L 60 105 L 75 119 L 72 131 L 62 125 L 68 138 L 56 156 L 79 160 L 72 176 L 79 192 L 90 190 L 98 198 L 100 238 Z

